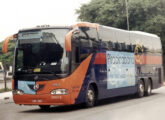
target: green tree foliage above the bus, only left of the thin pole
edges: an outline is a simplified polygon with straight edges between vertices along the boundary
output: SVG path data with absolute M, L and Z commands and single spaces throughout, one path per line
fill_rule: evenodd
M 124 0 L 92 0 L 82 5 L 76 13 L 82 21 L 123 29 L 127 27 Z

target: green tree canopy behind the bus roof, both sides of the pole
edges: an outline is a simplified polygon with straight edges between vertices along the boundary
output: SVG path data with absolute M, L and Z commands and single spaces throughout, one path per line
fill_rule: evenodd
M 130 30 L 157 34 L 165 53 L 165 0 L 128 0 L 128 10 Z M 76 13 L 82 21 L 127 29 L 125 0 L 91 0 Z

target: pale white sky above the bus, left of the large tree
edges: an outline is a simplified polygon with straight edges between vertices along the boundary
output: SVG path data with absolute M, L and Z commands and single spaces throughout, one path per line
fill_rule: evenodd
M 72 25 L 75 9 L 90 0 L 0 0 L 0 41 L 37 25 Z

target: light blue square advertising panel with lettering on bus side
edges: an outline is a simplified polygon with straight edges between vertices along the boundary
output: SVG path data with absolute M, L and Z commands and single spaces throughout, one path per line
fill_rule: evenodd
M 135 56 L 128 52 L 106 52 L 107 89 L 135 85 Z

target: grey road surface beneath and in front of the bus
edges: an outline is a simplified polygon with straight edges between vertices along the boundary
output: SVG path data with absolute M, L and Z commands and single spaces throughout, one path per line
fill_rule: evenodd
M 0 120 L 164 120 L 165 87 L 153 91 L 150 97 L 125 96 L 101 101 L 98 106 L 52 107 L 48 111 L 38 106 L 19 106 L 12 100 L 0 101 Z

